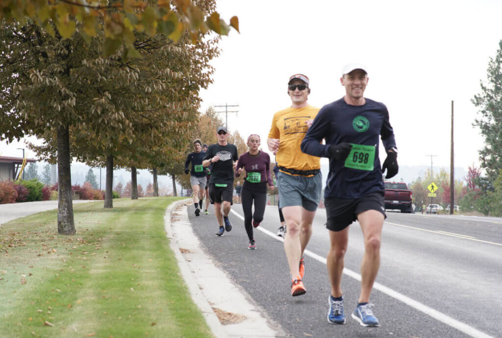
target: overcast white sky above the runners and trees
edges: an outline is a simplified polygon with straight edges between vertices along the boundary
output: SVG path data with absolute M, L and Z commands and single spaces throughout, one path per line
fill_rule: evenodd
M 240 34 L 223 37 L 201 111 L 238 104 L 231 131 L 261 135 L 268 150 L 272 116 L 291 104 L 289 76 L 308 75 L 309 103 L 321 107 L 343 96 L 341 68 L 358 61 L 368 67 L 365 96 L 389 109 L 401 165 L 430 165 L 433 154 L 434 166 L 449 167 L 451 100 L 455 166 L 478 165 L 483 140 L 470 100 L 502 39 L 502 2 L 217 0 L 217 11 L 227 22 L 238 16 Z M 0 153 L 21 157 L 22 147 L 2 142 Z

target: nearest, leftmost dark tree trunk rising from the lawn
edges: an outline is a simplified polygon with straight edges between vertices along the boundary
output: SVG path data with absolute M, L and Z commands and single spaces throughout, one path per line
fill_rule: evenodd
M 71 195 L 70 131 L 58 125 L 58 234 L 75 235 L 73 201 Z

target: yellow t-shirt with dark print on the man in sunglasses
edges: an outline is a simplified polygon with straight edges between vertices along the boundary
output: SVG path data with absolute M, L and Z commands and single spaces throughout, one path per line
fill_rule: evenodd
M 319 108 L 307 105 L 303 108 L 281 110 L 274 114 L 269 138 L 279 139 L 280 145 L 276 155 L 277 164 L 295 170 L 313 170 L 321 168 L 321 158 L 307 155 L 300 149 L 307 133 L 307 121 L 314 119 Z

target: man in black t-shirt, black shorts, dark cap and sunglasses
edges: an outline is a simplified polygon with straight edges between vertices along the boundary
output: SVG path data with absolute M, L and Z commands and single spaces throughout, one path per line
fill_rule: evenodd
M 216 236 L 223 236 L 225 230 L 232 230 L 228 213 L 230 212 L 233 197 L 233 163 L 237 161 L 238 154 L 237 147 L 227 142 L 228 131 L 226 127 L 218 127 L 216 138 L 218 143 L 209 146 L 202 165 L 207 168 L 212 163 L 213 166 L 209 196 L 211 197 L 211 203 L 214 204 L 214 213 L 219 224 Z M 225 224 L 224 228 L 223 222 Z

